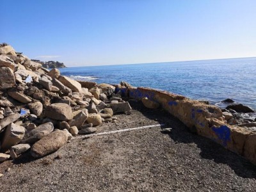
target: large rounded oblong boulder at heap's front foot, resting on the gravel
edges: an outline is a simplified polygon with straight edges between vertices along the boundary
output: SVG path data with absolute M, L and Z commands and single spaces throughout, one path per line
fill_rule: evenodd
M 31 155 L 38 158 L 51 154 L 65 145 L 67 140 L 68 136 L 65 131 L 56 130 L 51 132 L 33 145 L 31 148 Z

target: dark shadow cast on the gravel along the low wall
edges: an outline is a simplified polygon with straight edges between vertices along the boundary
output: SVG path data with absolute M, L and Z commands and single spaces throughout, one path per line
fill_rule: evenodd
M 179 119 L 170 115 L 163 109 L 147 109 L 141 102 L 129 100 L 131 107 L 140 111 L 144 116 L 157 120 L 164 127 L 171 127 L 172 131 L 167 133 L 177 143 L 195 143 L 201 149 L 200 156 L 204 159 L 212 159 L 215 163 L 227 164 L 234 170 L 236 175 L 243 178 L 256 179 L 256 166 L 234 152 L 223 148 L 218 143 L 189 132 L 188 127 Z M 166 133 L 163 133 L 166 134 Z

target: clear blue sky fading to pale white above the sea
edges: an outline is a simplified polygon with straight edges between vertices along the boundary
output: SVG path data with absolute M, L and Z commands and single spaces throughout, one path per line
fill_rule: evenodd
M 0 0 L 0 42 L 68 67 L 256 56 L 255 0 Z

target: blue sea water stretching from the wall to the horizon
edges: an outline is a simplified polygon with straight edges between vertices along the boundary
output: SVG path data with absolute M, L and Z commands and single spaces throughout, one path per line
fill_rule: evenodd
M 256 58 L 68 67 L 61 74 L 97 83 L 127 81 L 212 104 L 230 98 L 256 109 Z

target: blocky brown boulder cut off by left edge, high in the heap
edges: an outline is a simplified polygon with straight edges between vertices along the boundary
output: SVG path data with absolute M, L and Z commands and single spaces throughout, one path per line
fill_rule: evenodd
M 0 67 L 0 90 L 12 88 L 15 85 L 13 70 L 9 67 Z

